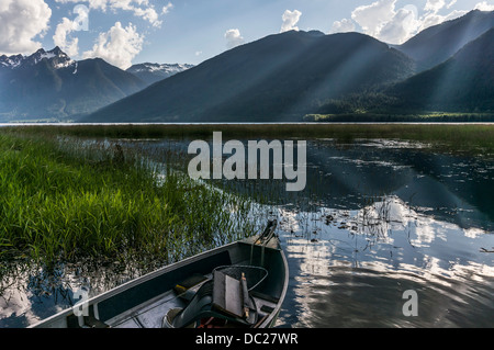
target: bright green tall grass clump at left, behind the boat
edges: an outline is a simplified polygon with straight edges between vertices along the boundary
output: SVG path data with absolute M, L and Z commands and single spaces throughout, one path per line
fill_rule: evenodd
M 171 262 L 249 234 L 248 201 L 143 159 L 111 143 L 0 132 L 0 258 Z

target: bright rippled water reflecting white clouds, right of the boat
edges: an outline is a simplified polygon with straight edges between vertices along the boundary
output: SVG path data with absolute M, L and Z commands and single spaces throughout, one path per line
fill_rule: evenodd
M 279 327 L 494 324 L 493 258 L 481 251 L 494 239 L 485 230 L 417 213 L 396 196 L 357 211 L 282 210 L 280 217 L 294 278 Z M 402 313 L 407 290 L 419 295 L 416 318 Z

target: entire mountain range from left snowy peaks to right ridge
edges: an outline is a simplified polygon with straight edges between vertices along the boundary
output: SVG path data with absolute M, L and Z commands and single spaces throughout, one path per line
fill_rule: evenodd
M 0 120 L 285 122 L 312 113 L 494 113 L 494 11 L 403 45 L 359 33 L 269 35 L 199 66 L 0 56 Z

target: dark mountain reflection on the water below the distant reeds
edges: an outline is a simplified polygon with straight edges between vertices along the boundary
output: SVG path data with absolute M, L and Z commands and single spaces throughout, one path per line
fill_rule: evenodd
M 226 183 L 235 191 L 269 193 L 268 202 L 311 211 L 357 210 L 395 195 L 414 210 L 463 228 L 492 230 L 494 160 L 438 151 L 422 143 L 335 139 L 307 143 L 307 187 L 288 193 L 279 182 Z

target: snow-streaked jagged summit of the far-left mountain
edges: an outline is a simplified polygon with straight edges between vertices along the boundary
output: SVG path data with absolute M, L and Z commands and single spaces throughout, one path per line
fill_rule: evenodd
M 37 52 L 30 56 L 13 55 L 13 56 L 0 56 L 0 68 L 20 69 L 22 67 L 35 66 L 46 59 L 49 65 L 55 69 L 67 68 L 76 65 L 76 61 L 64 53 L 58 46 L 52 50 L 44 50 L 40 48 Z

